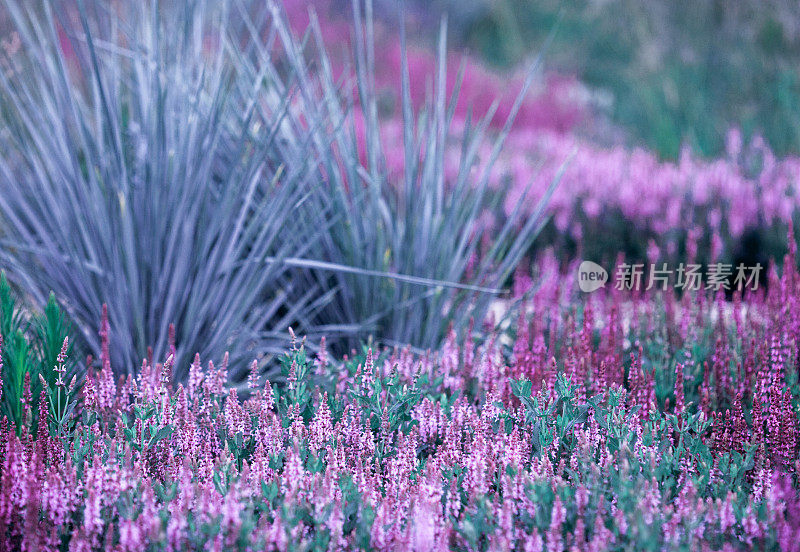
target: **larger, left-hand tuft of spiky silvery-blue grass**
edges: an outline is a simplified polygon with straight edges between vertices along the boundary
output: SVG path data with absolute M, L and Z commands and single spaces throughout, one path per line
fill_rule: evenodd
M 54 290 L 93 351 L 107 303 L 117 371 L 148 347 L 163 360 L 171 323 L 178 377 L 197 352 L 237 366 L 302 326 L 308 304 L 264 262 L 317 237 L 275 156 L 286 97 L 239 71 L 225 3 L 4 5 L 21 41 L 0 73 L 9 278 Z

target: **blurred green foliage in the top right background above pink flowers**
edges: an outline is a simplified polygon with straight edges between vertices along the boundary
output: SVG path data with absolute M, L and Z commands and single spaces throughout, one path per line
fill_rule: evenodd
M 664 157 L 676 158 L 684 143 L 716 155 L 730 126 L 763 134 L 779 153 L 800 151 L 791 2 L 502 0 L 485 8 L 461 35 L 500 65 L 524 58 L 561 17 L 553 65 L 608 96 L 612 119 Z

